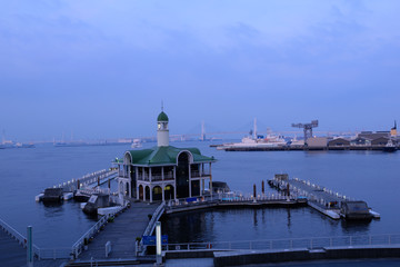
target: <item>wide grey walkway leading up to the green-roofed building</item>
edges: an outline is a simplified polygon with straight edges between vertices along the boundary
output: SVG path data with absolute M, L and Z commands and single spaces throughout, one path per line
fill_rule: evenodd
M 113 222 L 106 225 L 89 244 L 79 259 L 106 259 L 106 243 L 111 241 L 112 251 L 109 258 L 134 258 L 134 243 L 141 237 L 149 224 L 148 215 L 152 215 L 159 204 L 131 202 L 131 207 L 120 214 Z

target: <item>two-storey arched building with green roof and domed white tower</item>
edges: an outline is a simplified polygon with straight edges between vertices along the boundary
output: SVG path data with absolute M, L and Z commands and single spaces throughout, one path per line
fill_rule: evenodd
M 116 160 L 120 196 L 152 202 L 212 191 L 211 165 L 216 159 L 201 155 L 198 148 L 170 146 L 168 122 L 161 111 L 157 118 L 157 146 L 128 150 L 123 159 Z

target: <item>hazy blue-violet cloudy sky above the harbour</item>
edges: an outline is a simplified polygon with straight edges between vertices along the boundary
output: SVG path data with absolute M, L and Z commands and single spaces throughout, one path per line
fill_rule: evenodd
M 389 130 L 399 116 L 400 1 L 13 0 L 0 8 L 8 139 Z M 262 130 L 262 129 L 261 129 Z

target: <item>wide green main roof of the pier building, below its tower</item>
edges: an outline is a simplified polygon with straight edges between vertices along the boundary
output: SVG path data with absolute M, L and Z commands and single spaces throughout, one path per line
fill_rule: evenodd
M 176 148 L 153 147 L 150 149 L 129 150 L 132 158 L 132 165 L 158 166 L 158 165 L 177 165 L 177 157 L 179 152 L 187 150 L 193 156 L 194 164 L 216 161 L 213 157 L 206 157 L 201 155 L 198 148 Z M 126 152 L 126 154 L 127 154 Z

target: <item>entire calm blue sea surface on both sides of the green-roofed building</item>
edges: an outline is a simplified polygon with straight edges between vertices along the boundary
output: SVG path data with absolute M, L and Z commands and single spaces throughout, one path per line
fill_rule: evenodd
M 214 156 L 219 161 L 212 167 L 213 180 L 227 181 L 232 190 L 251 192 L 253 184 L 260 190 L 261 180 L 288 172 L 363 199 L 382 218 L 348 225 L 307 207 L 194 211 L 162 222 L 170 243 L 400 233 L 400 152 L 224 152 L 210 148 L 209 142 L 171 145 L 198 147 Z M 156 144 L 144 147 L 151 146 Z M 34 196 L 47 187 L 109 168 L 127 149 L 129 146 L 0 149 L 0 218 L 22 234 L 28 225 L 33 226 L 34 243 L 40 247 L 70 247 L 96 219 L 86 216 L 77 202 L 46 207 L 36 202 Z

